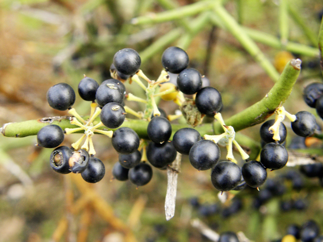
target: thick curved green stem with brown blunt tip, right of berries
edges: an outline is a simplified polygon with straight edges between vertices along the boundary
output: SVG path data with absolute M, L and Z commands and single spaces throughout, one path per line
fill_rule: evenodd
M 290 61 L 278 82 L 273 88 L 257 103 L 225 120 L 227 126 L 233 126 L 234 130 L 245 129 L 262 123 L 271 116 L 277 107 L 281 106 L 292 92 L 293 86 L 300 73 L 300 60 Z M 214 123 L 214 133 L 221 134 L 223 129 L 219 122 Z

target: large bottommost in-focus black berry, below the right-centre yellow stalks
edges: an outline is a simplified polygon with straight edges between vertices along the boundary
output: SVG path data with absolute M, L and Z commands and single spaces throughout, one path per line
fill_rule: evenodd
M 211 173 L 213 186 L 220 191 L 230 191 L 238 186 L 241 180 L 240 167 L 231 161 L 222 161 L 214 166 Z

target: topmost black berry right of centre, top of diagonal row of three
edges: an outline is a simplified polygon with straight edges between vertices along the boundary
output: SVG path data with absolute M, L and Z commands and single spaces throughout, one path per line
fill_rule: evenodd
M 189 58 L 187 53 L 179 47 L 169 47 L 164 51 L 163 56 L 161 56 L 161 64 L 163 64 L 166 71 L 171 73 L 180 73 L 187 68 L 188 63 Z

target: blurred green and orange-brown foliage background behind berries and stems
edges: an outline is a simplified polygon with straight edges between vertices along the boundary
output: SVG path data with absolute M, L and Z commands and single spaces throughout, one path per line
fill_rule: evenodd
M 0 123 L 45 116 L 66 115 L 51 109 L 45 96 L 60 82 L 75 90 L 83 74 L 99 83 L 110 78 L 109 68 L 119 49 L 130 47 L 142 57 L 141 70 L 158 77 L 161 54 L 171 45 L 186 49 L 190 67 L 198 69 L 223 95 L 223 116 L 243 110 L 260 100 L 274 81 L 228 31 L 212 25 L 208 10 L 175 21 L 134 25 L 139 16 L 154 16 L 196 0 L 3 0 L 0 2 Z M 290 1 L 291 2 L 291 1 Z M 225 1 L 225 8 L 241 25 L 280 39 L 280 1 Z M 320 0 L 294 0 L 288 21 L 288 39 L 315 48 L 322 15 Z M 297 21 L 298 20 L 298 21 Z M 312 37 L 310 37 L 312 36 Z M 274 65 L 284 50 L 258 44 Z M 285 108 L 296 113 L 310 110 L 301 98 L 303 87 L 321 81 L 315 54 L 300 55 L 301 76 Z M 276 60 L 275 60 L 276 58 Z M 278 68 L 279 68 L 279 64 Z M 136 85 L 127 89 L 143 95 Z M 138 89 L 138 90 L 137 90 Z M 136 104 L 129 103 L 134 109 Z M 168 114 L 174 103 L 160 102 Z M 87 114 L 89 105 L 77 98 L 76 109 Z M 318 122 L 322 125 L 321 120 Z M 286 124 L 289 127 L 289 124 Z M 242 131 L 260 141 L 259 125 Z M 290 129 L 288 130 L 291 131 Z M 77 136 L 65 138 L 65 144 Z M 287 144 L 290 143 L 290 135 Z M 95 137 L 97 157 L 106 167 L 100 183 L 85 185 L 78 178 L 53 172 L 51 150 L 35 147 L 35 137 L 0 136 L 0 241 L 211 241 L 190 221 L 199 218 L 217 232 L 243 231 L 254 241 L 271 241 L 285 234 L 292 222 L 314 219 L 323 228 L 323 190 L 318 178 L 305 179 L 302 190 L 282 181 L 282 196 L 254 206 L 258 192 L 245 189 L 222 204 L 210 183 L 209 171 L 197 172 L 183 158 L 179 175 L 175 217 L 166 221 L 164 200 L 166 172 L 154 169 L 152 181 L 136 189 L 128 182 L 110 181 L 118 160 L 110 139 Z M 319 140 L 311 145 L 321 147 Z M 281 179 L 297 168 L 270 172 Z M 266 185 L 264 185 L 265 187 Z M 260 188 L 261 191 L 261 188 Z M 306 209 L 280 209 L 282 201 L 305 201 Z M 197 201 L 200 206 L 197 206 Z M 236 202 L 239 201 L 239 202 Z M 236 206 L 234 214 L 228 212 Z M 212 207 L 213 206 L 213 207 Z M 237 209 L 238 208 L 238 209 Z M 242 209 L 241 209 L 242 208 Z M 207 210 L 209 209 L 209 210 Z M 213 210 L 212 210 L 213 209 Z M 229 214 L 229 215 L 228 215 Z

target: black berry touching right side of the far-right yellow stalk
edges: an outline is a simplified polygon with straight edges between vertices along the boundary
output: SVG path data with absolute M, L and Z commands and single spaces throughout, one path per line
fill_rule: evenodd
M 315 116 L 307 111 L 300 111 L 295 115 L 296 120 L 291 122 L 294 133 L 302 137 L 307 137 L 314 134 L 314 131 L 316 130 Z

